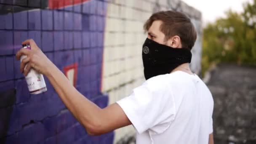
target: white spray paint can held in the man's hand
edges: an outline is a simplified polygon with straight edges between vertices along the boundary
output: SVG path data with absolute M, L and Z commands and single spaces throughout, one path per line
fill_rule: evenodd
M 22 45 L 22 47 L 28 48 L 29 50 L 31 49 L 30 45 L 28 44 Z M 20 61 L 22 61 L 22 59 L 25 59 L 26 57 L 27 56 L 22 55 Z M 25 66 L 25 68 L 26 67 L 27 65 Z M 31 94 L 39 94 L 47 91 L 43 75 L 37 72 L 35 69 L 30 69 L 25 79 L 27 81 L 27 86 Z

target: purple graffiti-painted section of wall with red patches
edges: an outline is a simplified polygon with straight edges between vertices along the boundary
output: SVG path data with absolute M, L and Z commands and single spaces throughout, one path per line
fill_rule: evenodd
M 107 3 L 102 0 L 0 0 L 0 143 L 112 144 L 114 133 L 89 136 L 57 96 L 30 95 L 19 61 L 32 38 L 80 93 L 99 107 Z

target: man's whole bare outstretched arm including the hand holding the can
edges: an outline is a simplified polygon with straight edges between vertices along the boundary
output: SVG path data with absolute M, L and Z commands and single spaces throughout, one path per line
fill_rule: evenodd
M 86 99 L 37 47 L 34 40 L 26 40 L 22 44 L 29 44 L 31 50 L 21 48 L 16 53 L 17 60 L 20 59 L 21 55 L 27 55 L 27 58 L 21 62 L 21 72 L 27 75 L 29 69 L 33 68 L 46 75 L 63 103 L 89 134 L 99 135 L 131 124 L 118 104 L 115 103 L 101 109 Z M 24 70 L 26 64 L 27 67 Z

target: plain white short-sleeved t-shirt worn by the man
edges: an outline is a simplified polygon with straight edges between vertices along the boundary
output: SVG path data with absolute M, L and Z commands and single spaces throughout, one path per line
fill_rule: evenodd
M 117 104 L 136 128 L 136 144 L 208 144 L 213 132 L 213 98 L 197 75 L 152 77 Z

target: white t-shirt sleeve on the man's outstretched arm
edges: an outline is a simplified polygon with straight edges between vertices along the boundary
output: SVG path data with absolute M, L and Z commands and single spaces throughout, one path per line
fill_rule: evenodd
M 140 134 L 148 129 L 162 133 L 171 125 L 176 114 L 172 91 L 163 83 L 161 76 L 147 80 L 117 104 Z

